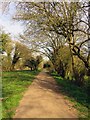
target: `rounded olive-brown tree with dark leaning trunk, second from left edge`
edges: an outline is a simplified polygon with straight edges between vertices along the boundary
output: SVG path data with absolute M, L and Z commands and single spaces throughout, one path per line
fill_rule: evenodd
M 11 70 L 14 70 L 15 65 L 21 60 L 22 66 L 26 59 L 32 56 L 31 50 L 24 44 L 20 42 L 15 42 L 15 47 L 12 56 L 12 67 Z

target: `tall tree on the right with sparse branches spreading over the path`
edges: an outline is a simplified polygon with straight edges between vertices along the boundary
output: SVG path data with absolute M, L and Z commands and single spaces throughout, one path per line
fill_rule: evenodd
M 23 4 L 23 7 L 22 7 Z M 27 8 L 24 10 L 24 8 Z M 84 7 L 85 8 L 85 7 Z M 83 20 L 83 16 L 86 19 L 86 11 L 83 8 L 83 3 L 79 2 L 61 2 L 61 3 L 20 3 L 19 10 L 23 11 L 23 14 L 17 14 L 16 18 L 24 21 L 29 21 L 27 26 L 26 35 L 31 33 L 34 36 L 37 33 L 55 32 L 58 35 L 62 35 L 67 39 L 69 48 L 71 51 L 72 58 L 72 69 L 74 72 L 74 61 L 73 55 L 76 55 L 80 60 L 83 61 L 87 71 L 90 71 L 90 65 L 87 60 L 87 54 L 82 54 L 82 46 L 84 46 L 88 39 L 86 36 L 89 35 L 87 27 L 89 24 Z M 32 25 L 30 24 L 32 23 Z M 29 25 L 30 24 L 30 25 Z M 82 25 L 86 29 L 82 28 Z M 77 44 L 77 35 L 79 37 L 79 43 Z M 40 34 L 39 34 L 40 35 Z M 86 51 L 86 50 L 85 50 Z

